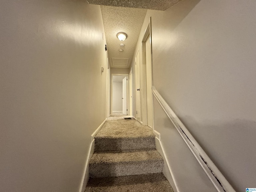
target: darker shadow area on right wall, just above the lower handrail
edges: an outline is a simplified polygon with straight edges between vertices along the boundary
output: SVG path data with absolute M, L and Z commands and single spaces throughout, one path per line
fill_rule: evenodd
M 185 116 L 181 121 L 236 191 L 255 184 L 256 122 L 235 119 L 198 122 Z M 199 137 L 200 136 L 200 137 Z

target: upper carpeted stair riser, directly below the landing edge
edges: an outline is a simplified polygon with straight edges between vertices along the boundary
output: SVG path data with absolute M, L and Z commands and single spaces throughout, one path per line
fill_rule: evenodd
M 155 149 L 155 138 L 95 138 L 95 151 Z

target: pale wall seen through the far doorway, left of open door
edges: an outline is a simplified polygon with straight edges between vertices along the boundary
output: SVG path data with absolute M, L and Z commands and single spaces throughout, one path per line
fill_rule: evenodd
M 123 110 L 123 83 L 113 82 L 113 104 L 112 111 L 122 111 Z

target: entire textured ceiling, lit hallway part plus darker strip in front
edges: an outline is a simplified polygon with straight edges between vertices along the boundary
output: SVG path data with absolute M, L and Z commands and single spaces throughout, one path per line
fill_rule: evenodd
M 140 29 L 148 9 L 166 10 L 181 0 L 87 0 L 101 5 L 106 34 L 108 58 L 111 68 L 130 68 Z M 119 32 L 127 34 L 124 41 L 117 38 Z M 120 44 L 124 44 L 121 47 Z M 122 49 L 123 52 L 119 52 Z

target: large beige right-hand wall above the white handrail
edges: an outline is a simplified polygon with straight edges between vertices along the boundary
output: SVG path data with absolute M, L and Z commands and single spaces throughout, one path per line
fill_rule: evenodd
M 138 41 L 151 16 L 153 84 L 236 191 L 256 180 L 255 9 L 184 0 L 148 10 Z

